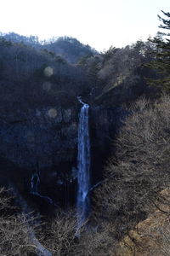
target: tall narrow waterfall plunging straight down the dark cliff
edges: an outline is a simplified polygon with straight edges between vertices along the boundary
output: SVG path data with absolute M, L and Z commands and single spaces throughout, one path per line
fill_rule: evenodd
M 88 129 L 88 109 L 89 105 L 82 102 L 78 126 L 78 157 L 77 157 L 77 216 L 78 227 L 81 227 L 84 220 L 88 217 L 90 207 L 90 138 Z

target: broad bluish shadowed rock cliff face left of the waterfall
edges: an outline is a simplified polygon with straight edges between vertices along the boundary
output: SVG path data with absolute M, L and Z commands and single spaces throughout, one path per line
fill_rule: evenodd
M 57 187 L 68 183 L 71 166 L 77 158 L 77 117 L 77 106 L 20 106 L 3 111 L 0 117 L 2 182 L 12 180 L 26 191 L 30 189 L 31 174 L 39 170 L 42 192 L 55 196 Z

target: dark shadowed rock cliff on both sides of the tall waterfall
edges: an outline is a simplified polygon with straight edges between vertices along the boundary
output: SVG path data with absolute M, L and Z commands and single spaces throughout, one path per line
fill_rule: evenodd
M 29 194 L 31 175 L 38 171 L 42 195 L 48 195 L 59 205 L 73 203 L 77 190 L 77 133 L 81 106 L 78 102 L 72 102 L 69 108 L 62 104 L 44 108 L 26 108 L 25 104 L 13 106 L 6 110 L 1 108 L 2 182 L 12 180 L 21 191 Z M 92 185 L 102 178 L 105 156 L 122 113 L 122 108 L 102 106 L 92 106 L 90 110 Z

